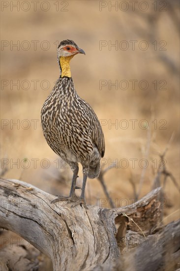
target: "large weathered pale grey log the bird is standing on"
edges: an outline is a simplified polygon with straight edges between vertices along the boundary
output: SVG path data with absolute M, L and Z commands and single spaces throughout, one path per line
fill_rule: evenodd
M 140 201 L 115 209 L 91 205 L 89 209 L 80 205 L 71 208 L 67 202 L 51 204 L 55 196 L 30 184 L 1 179 L 0 227 L 47 254 L 54 270 L 113 270 L 120 254 L 135 246 L 124 242 L 129 231 L 142 239 L 142 231 L 150 235 L 160 225 L 159 193 L 156 188 Z M 115 224 L 120 225 L 118 230 Z

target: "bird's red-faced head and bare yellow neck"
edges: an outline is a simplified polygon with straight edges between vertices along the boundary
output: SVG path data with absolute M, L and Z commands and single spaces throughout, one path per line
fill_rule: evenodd
M 58 46 L 58 63 L 60 64 L 61 77 L 71 77 L 70 60 L 77 54 L 84 54 L 85 51 L 70 39 L 62 40 Z

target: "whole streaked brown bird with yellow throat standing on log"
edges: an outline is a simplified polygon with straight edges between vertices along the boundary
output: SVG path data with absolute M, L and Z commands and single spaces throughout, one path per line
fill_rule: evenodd
M 59 197 L 53 202 L 69 200 L 72 206 L 85 202 L 87 177 L 95 178 L 100 172 L 100 159 L 104 156 L 104 135 L 96 114 L 82 100 L 73 84 L 69 62 L 71 58 L 85 52 L 72 40 L 63 40 L 58 46 L 60 78 L 41 110 L 44 136 L 49 146 L 64 159 L 73 170 L 69 197 Z M 83 166 L 83 187 L 80 199 L 76 197 L 75 185 L 78 163 Z

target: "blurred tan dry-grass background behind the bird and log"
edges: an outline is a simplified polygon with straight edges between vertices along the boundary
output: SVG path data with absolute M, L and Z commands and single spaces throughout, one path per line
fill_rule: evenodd
M 125 6 L 122 1 L 51 0 L 39 1 L 36 8 L 31 1 L 29 5 L 20 1 L 19 7 L 4 2 L 3 177 L 21 179 L 54 195 L 69 193 L 72 172 L 62 162 L 57 166 L 58 156 L 40 127 L 42 104 L 59 77 L 56 47 L 68 38 L 86 52 L 71 61 L 71 75 L 79 96 L 90 103 L 103 125 L 103 169 L 117 163 L 104 174 L 116 206 L 132 203 L 133 185 L 139 197 L 150 192 L 160 155 L 168 146 L 165 167 L 179 184 L 179 1 L 149 0 L 144 1 L 146 5 L 138 1 L 134 9 L 130 1 Z M 115 2 L 118 6 L 112 7 Z M 132 80 L 136 80 L 134 87 Z M 117 86 L 111 85 L 115 82 Z M 148 161 L 147 169 L 142 169 L 142 159 Z M 82 185 L 81 170 L 77 184 Z M 179 218 L 179 190 L 169 176 L 164 191 L 166 224 Z M 97 179 L 88 180 L 86 199 L 97 205 L 105 199 Z M 122 203 L 121 199 L 126 200 Z M 103 206 L 110 204 L 107 201 Z

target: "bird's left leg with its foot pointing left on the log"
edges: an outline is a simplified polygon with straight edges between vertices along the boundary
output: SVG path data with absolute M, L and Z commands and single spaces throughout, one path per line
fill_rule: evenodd
M 58 198 L 53 200 L 51 203 L 56 203 L 59 201 L 70 201 L 70 202 L 77 201 L 78 197 L 76 196 L 75 189 L 76 189 L 76 179 L 78 177 L 78 171 L 79 171 L 79 167 L 77 165 L 73 171 L 72 184 L 71 184 L 69 197 L 58 196 Z

